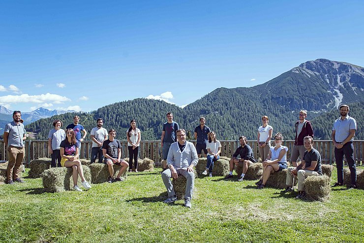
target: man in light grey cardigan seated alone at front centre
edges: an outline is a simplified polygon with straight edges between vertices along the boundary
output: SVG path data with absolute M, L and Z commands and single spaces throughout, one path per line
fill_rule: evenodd
M 178 142 L 171 145 L 167 156 L 167 165 L 169 169 L 162 173 L 162 180 L 168 192 L 168 198 L 164 200 L 164 203 L 173 203 L 177 201 L 171 178 L 177 179 L 178 176 L 183 176 L 187 179 L 183 205 L 187 208 L 191 208 L 191 199 L 195 182 L 193 167 L 198 163 L 198 156 L 193 143 L 186 141 L 185 130 L 178 129 L 176 134 Z

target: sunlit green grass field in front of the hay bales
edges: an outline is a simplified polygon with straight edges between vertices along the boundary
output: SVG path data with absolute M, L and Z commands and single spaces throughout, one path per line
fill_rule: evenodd
M 41 179 L 0 185 L 0 242 L 364 242 L 364 190 L 306 202 L 255 181 L 198 178 L 187 209 L 162 202 L 159 172 L 81 193 L 45 193 Z

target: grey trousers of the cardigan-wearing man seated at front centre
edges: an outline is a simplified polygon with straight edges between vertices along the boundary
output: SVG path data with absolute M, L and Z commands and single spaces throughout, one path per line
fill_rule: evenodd
M 187 170 L 177 170 L 177 175 L 183 176 L 187 180 L 184 198 L 192 199 L 193 187 L 195 185 L 195 173 L 187 172 Z M 172 172 L 170 169 L 163 171 L 162 180 L 163 180 L 164 186 L 167 189 L 168 197 L 172 197 L 172 196 L 176 195 L 175 190 L 173 189 L 171 178 L 172 178 Z

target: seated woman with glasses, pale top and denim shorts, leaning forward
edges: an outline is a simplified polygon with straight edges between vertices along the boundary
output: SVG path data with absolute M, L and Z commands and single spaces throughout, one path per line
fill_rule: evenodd
M 286 146 L 282 146 L 283 136 L 280 133 L 275 134 L 274 143 L 275 147 L 271 147 L 268 153 L 267 159 L 263 162 L 263 176 L 259 182 L 255 183 L 258 185 L 258 189 L 265 187 L 268 178 L 275 171 L 287 169 L 287 151 Z

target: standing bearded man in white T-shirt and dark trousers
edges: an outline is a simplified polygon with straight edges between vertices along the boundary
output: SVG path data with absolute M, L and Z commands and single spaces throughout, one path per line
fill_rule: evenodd
M 91 130 L 92 139 L 92 150 L 91 150 L 91 163 L 96 161 L 96 156 L 98 156 L 98 162 L 102 163 L 104 155 L 102 153 L 102 143 L 107 139 L 107 130 L 102 127 L 104 120 L 102 118 L 97 119 L 97 126 Z

